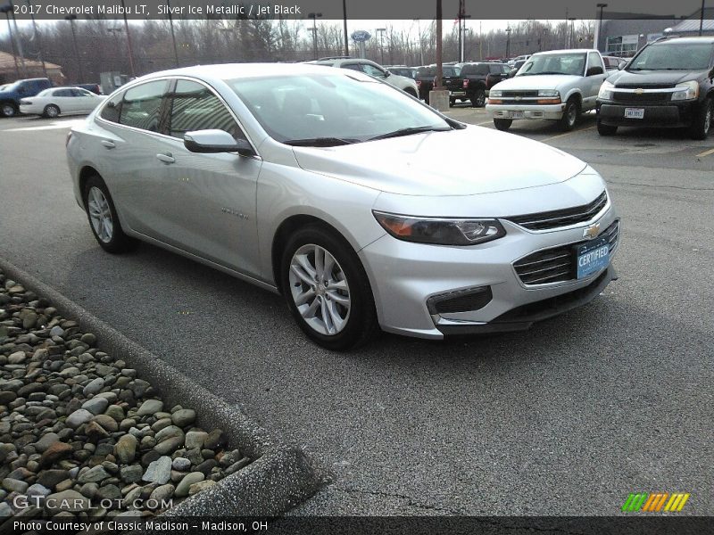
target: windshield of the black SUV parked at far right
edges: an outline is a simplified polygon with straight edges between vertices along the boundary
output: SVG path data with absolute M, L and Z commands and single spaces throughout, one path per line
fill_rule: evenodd
M 627 70 L 706 70 L 711 59 L 711 44 L 677 45 L 658 43 L 647 46 Z

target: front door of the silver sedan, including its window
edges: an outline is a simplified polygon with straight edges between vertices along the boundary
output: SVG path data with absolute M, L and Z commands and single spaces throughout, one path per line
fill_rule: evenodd
M 164 152 L 178 188 L 176 230 L 182 249 L 247 275 L 259 276 L 255 196 L 262 160 L 234 152 L 197 153 L 184 146 L 187 132 L 218 128 L 246 138 L 235 114 L 212 87 L 179 78 L 168 102 Z

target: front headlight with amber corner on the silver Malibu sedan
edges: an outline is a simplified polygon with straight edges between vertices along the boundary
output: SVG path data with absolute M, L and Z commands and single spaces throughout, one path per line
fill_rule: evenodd
M 376 210 L 372 213 L 386 232 L 404 242 L 476 245 L 506 235 L 506 230 L 496 219 L 412 218 Z

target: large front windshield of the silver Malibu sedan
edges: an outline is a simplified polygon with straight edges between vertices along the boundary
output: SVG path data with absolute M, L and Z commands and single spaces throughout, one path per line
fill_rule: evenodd
M 451 129 L 402 91 L 352 73 L 241 78 L 228 85 L 281 143 L 356 143 L 411 128 Z

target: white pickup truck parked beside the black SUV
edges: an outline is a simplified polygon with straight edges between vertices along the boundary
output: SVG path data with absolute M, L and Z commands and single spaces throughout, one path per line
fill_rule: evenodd
M 583 111 L 595 109 L 606 77 L 596 50 L 534 53 L 515 77 L 491 88 L 486 112 L 499 130 L 511 128 L 513 119 L 558 120 L 571 130 Z

